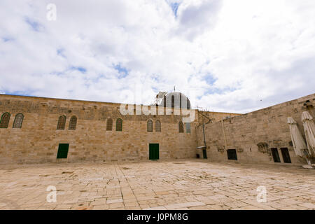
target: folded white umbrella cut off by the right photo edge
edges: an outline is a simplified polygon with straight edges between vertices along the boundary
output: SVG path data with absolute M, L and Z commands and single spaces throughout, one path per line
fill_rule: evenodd
M 304 111 L 302 113 L 302 122 L 304 127 L 305 139 L 307 140 L 307 148 L 309 154 L 315 157 L 315 125 L 313 118 L 309 112 Z

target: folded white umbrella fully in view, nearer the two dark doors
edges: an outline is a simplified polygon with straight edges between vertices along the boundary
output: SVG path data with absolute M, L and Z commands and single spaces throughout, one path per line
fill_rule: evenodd
M 293 144 L 293 149 L 296 155 L 303 157 L 304 150 L 307 150 L 307 145 L 302 137 L 300 130 L 297 127 L 297 123 L 291 117 L 288 117 L 288 124 L 290 127 L 290 135 Z

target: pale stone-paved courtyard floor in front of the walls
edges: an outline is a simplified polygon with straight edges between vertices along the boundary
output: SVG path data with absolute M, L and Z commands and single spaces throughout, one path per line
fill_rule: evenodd
M 48 186 L 57 202 L 48 203 Z M 257 202 L 265 186 L 267 202 Z M 315 209 L 315 170 L 209 160 L 1 165 L 0 209 Z

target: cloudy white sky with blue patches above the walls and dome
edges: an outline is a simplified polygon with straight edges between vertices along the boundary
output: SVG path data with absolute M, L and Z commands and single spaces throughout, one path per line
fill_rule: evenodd
M 314 0 L 1 0 L 0 92 L 151 104 L 175 85 L 246 113 L 315 92 L 314 15 Z

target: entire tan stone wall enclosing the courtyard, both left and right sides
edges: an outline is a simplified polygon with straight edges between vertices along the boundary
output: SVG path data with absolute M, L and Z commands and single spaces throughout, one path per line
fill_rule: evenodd
M 295 156 L 286 119 L 292 116 L 304 135 L 302 111 L 315 116 L 313 106 L 304 106 L 307 100 L 314 105 L 315 94 L 244 115 L 190 110 L 195 113 L 191 131 L 187 133 L 184 125 L 184 133 L 179 133 L 183 116 L 176 115 L 174 109 L 171 115 L 123 116 L 120 104 L 0 94 L 0 115 L 10 113 L 8 128 L 0 128 L 0 163 L 148 160 L 149 144 L 156 143 L 160 159 L 195 158 L 196 153 L 202 156 L 196 147 L 204 146 L 202 123 L 206 123 L 210 160 L 228 160 L 226 149 L 236 149 L 239 162 L 273 163 L 270 148 L 278 148 L 283 162 L 280 148 L 288 148 L 292 163 L 297 164 L 304 161 Z M 24 115 L 22 128 L 13 128 L 18 113 Z M 66 127 L 57 130 L 62 115 L 66 116 Z M 73 115 L 78 118 L 76 130 L 69 130 Z M 108 118 L 113 119 L 112 131 L 106 131 Z M 117 118 L 123 119 L 123 132 L 116 132 Z M 153 120 L 153 132 L 147 132 L 149 119 Z M 162 132 L 155 132 L 155 120 L 160 120 Z M 69 144 L 66 160 L 57 160 L 59 144 Z M 258 148 L 258 144 L 267 148 Z

